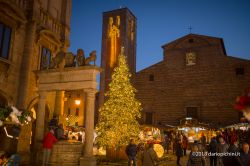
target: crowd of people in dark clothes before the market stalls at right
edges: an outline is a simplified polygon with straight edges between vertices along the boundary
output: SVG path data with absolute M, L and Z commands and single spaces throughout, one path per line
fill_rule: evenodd
M 169 133 L 164 137 L 164 149 L 169 153 L 172 145 L 173 154 L 177 156 L 177 165 L 180 165 L 180 159 L 186 155 L 189 144 L 191 152 L 187 166 L 205 166 L 208 160 L 210 166 L 250 166 L 249 144 L 239 142 L 240 139 L 242 140 L 234 130 L 218 132 L 210 142 L 202 134 L 201 138 L 194 143 L 188 143 L 183 133 Z

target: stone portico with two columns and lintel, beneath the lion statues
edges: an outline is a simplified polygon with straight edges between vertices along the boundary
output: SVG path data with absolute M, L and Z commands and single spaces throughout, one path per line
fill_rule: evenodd
M 46 95 L 50 91 L 83 90 L 86 96 L 85 146 L 80 165 L 95 166 L 93 156 L 95 93 L 97 92 L 96 77 L 101 69 L 96 66 L 69 67 L 35 71 L 38 78 L 38 110 L 35 131 L 35 146 L 41 147 L 44 137 L 44 118 Z

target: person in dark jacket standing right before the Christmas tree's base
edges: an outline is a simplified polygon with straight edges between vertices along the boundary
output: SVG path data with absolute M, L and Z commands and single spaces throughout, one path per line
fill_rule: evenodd
M 129 145 L 127 145 L 126 154 L 128 156 L 128 166 L 131 166 L 132 162 L 133 166 L 136 166 L 137 146 L 134 139 L 131 139 Z

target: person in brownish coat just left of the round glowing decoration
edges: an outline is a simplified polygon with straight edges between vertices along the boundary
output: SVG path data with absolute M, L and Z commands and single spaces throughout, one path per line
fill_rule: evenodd
M 158 159 L 156 152 L 154 151 L 154 145 L 149 144 L 148 149 L 143 155 L 143 166 L 155 166 Z

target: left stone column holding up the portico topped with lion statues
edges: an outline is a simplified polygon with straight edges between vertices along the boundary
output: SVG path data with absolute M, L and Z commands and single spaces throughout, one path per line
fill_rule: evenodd
M 36 113 L 36 132 L 35 143 L 36 148 L 42 143 L 44 137 L 44 118 L 45 118 L 45 104 L 46 104 L 46 91 L 39 91 L 38 110 Z

